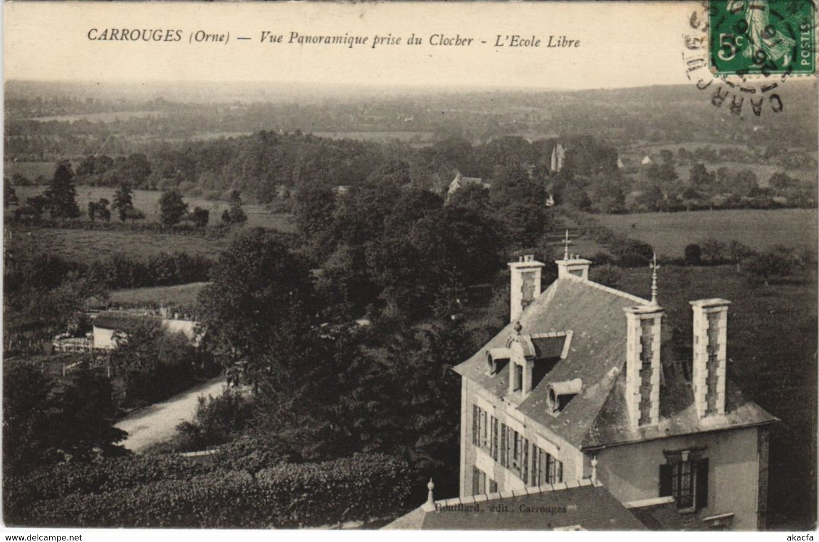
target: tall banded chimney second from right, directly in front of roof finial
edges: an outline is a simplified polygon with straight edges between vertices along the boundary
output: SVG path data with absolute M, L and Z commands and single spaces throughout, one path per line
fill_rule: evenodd
M 663 308 L 658 305 L 627 307 L 626 407 L 631 427 L 659 422 L 660 332 Z

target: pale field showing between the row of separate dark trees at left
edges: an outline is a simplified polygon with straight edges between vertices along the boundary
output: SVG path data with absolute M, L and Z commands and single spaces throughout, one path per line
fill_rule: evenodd
M 52 171 L 53 173 L 53 171 Z M 20 201 L 25 201 L 26 198 L 36 196 L 45 191 L 45 187 L 15 187 L 17 196 Z M 77 187 L 77 204 L 79 210 L 85 214 L 88 210 L 88 201 L 97 201 L 101 197 L 108 201 L 114 201 L 115 188 L 108 187 Z M 133 191 L 133 206 L 145 213 L 147 222 L 159 222 L 159 197 L 161 192 L 154 190 L 134 190 Z M 202 209 L 210 210 L 210 224 L 221 224 L 222 212 L 229 208 L 226 201 L 206 200 L 202 197 L 185 196 L 184 200 L 188 203 L 188 208 L 201 207 Z M 278 229 L 283 232 L 292 232 L 295 226 L 292 224 L 291 215 L 284 215 L 281 213 L 274 213 L 265 206 L 256 204 L 246 204 L 242 206 L 247 215 L 247 224 L 250 226 L 261 226 L 262 228 Z M 112 219 L 116 220 L 115 213 L 112 213 Z

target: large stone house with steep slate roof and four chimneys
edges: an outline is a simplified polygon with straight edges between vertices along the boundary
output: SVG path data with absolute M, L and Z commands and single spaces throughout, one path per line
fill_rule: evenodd
M 567 245 L 568 246 L 568 245 Z M 690 302 L 693 357 L 665 359 L 663 308 L 588 278 L 568 249 L 509 264 L 510 322 L 462 376 L 460 495 L 592 477 L 627 508 L 673 503 L 691 529 L 763 529 L 776 418 L 726 378 L 730 301 Z

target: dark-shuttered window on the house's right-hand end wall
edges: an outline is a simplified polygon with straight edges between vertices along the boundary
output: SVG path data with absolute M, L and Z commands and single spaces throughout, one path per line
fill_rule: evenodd
M 666 453 L 660 465 L 660 496 L 672 496 L 676 508 L 693 512 L 708 506 L 708 458 L 697 452 Z

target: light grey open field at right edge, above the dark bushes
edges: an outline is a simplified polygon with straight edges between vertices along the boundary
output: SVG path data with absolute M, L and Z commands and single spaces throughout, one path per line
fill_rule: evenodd
M 764 249 L 774 245 L 817 246 L 817 210 L 704 210 L 680 213 L 595 215 L 615 232 L 654 246 L 658 255 L 680 257 L 690 243 L 714 237 Z

